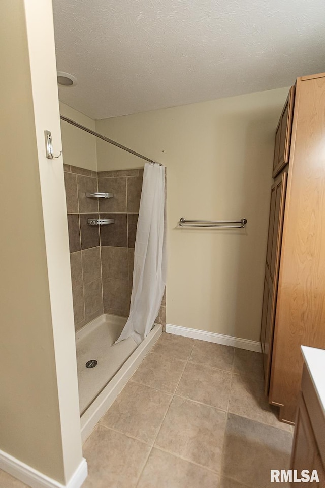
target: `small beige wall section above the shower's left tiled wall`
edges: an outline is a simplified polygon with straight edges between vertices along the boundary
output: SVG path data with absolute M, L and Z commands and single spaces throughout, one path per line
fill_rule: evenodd
M 73 87 L 71 88 L 73 90 Z M 95 121 L 78 110 L 60 102 L 60 114 L 95 130 Z M 65 164 L 97 171 L 96 138 L 87 132 L 61 120 L 63 158 Z

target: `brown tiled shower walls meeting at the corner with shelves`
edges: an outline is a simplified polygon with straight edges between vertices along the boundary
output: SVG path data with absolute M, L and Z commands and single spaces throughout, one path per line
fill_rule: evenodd
M 128 316 L 142 176 L 142 169 L 96 173 L 64 165 L 76 330 L 103 312 Z M 95 191 L 114 197 L 85 196 Z M 87 224 L 98 216 L 114 224 Z M 164 295 L 156 323 L 165 325 L 165 309 Z

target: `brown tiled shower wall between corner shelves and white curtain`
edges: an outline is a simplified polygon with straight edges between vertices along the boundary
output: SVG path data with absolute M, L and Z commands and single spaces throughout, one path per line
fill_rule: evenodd
M 98 173 L 98 191 L 114 194 L 100 201 L 101 218 L 114 219 L 114 224 L 101 227 L 104 312 L 108 314 L 129 313 L 142 175 L 138 169 Z

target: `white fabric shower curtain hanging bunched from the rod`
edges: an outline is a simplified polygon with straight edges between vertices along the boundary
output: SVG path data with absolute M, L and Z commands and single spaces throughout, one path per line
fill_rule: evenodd
M 130 315 L 116 342 L 140 344 L 158 315 L 166 286 L 165 168 L 146 163 L 134 253 Z

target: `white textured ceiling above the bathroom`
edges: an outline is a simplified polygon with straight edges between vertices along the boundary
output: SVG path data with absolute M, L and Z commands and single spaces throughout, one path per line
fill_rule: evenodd
M 325 71 L 324 0 L 53 0 L 63 102 L 94 119 Z

